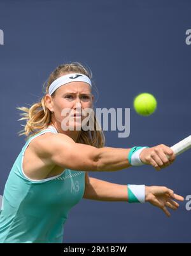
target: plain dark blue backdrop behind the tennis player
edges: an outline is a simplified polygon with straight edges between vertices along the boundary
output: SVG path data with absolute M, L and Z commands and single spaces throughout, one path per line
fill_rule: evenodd
M 131 108 L 131 134 L 105 132 L 106 146 L 173 145 L 190 135 L 191 2 L 164 0 L 0 1 L 1 174 L 0 194 L 25 143 L 17 106 L 42 96 L 56 66 L 78 61 L 90 67 L 99 90 L 97 108 Z M 158 108 L 141 117 L 132 108 L 140 92 Z M 165 185 L 191 194 L 190 152 L 160 172 L 151 166 L 89 173 L 120 184 Z M 81 200 L 65 226 L 66 243 L 190 242 L 191 211 L 167 218 L 150 204 Z

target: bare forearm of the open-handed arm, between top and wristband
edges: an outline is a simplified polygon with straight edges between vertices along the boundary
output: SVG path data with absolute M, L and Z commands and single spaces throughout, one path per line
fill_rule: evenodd
M 89 178 L 85 186 L 85 199 L 96 201 L 128 201 L 127 185 L 110 183 L 96 178 Z

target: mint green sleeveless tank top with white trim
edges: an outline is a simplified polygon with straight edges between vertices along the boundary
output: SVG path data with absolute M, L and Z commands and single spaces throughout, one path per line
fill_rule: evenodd
M 69 211 L 83 197 L 85 171 L 65 169 L 38 181 L 25 176 L 25 149 L 45 132 L 57 130 L 49 125 L 28 139 L 11 168 L 0 211 L 0 243 L 62 243 Z

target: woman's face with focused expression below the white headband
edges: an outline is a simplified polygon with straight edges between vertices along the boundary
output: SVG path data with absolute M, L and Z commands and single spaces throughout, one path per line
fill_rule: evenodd
M 51 98 L 49 96 L 48 102 L 52 106 L 50 110 L 53 110 L 53 118 L 61 124 L 62 129 L 80 131 L 81 122 L 88 117 L 83 114 L 92 109 L 94 96 L 90 85 L 85 82 L 67 83 L 59 87 L 55 91 L 55 97 Z

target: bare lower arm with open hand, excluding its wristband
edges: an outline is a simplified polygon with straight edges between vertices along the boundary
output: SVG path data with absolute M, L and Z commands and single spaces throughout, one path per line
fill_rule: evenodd
M 87 173 L 85 179 L 83 198 L 96 201 L 128 202 L 127 185 L 90 178 Z M 179 204 L 174 199 L 178 201 L 184 200 L 183 197 L 174 194 L 174 191 L 167 187 L 145 187 L 145 201 L 160 208 L 166 213 L 167 217 L 171 216 L 167 208 L 177 210 L 179 207 Z

